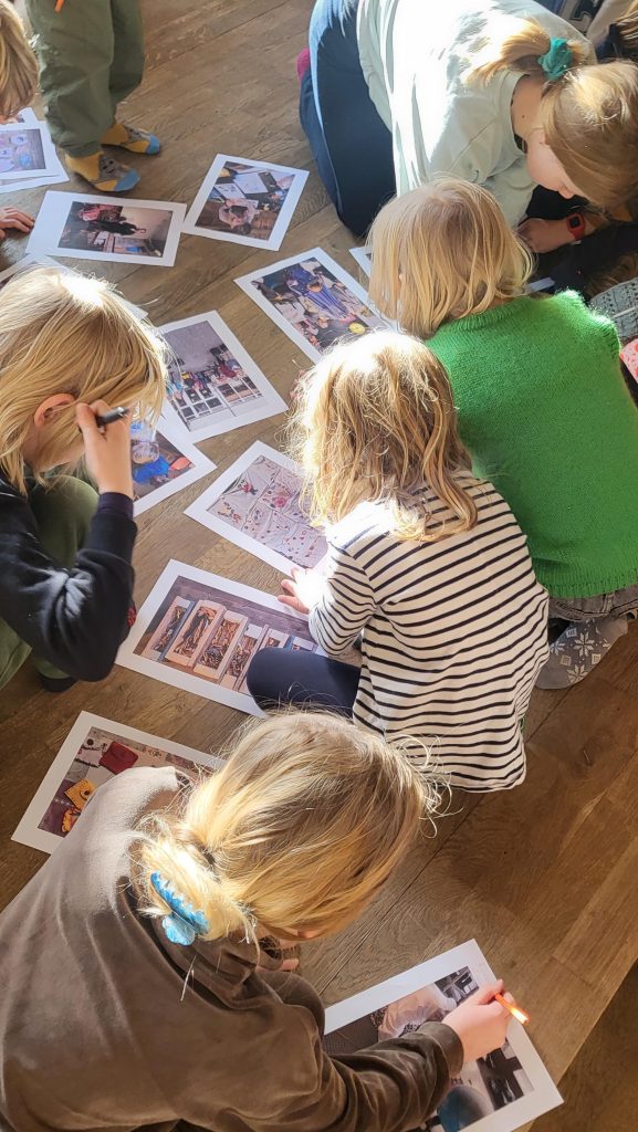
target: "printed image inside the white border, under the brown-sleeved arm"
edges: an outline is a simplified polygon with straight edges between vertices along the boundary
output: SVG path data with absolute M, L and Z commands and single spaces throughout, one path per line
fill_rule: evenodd
M 469 967 L 452 971 L 429 986 L 326 1035 L 324 1049 L 338 1057 L 388 1038 L 418 1030 L 424 1022 L 441 1022 L 451 1010 L 478 990 Z M 460 1132 L 483 1117 L 533 1091 L 533 1084 L 509 1041 L 477 1062 L 463 1065 L 426 1132 Z

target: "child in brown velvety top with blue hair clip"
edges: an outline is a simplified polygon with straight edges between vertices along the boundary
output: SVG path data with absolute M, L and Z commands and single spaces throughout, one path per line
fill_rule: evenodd
M 2 1127 L 407 1132 L 503 1045 L 495 983 L 443 1022 L 324 1053 L 279 941 L 356 919 L 435 792 L 327 715 L 253 723 L 228 754 L 197 783 L 165 766 L 100 787 L 0 916 Z

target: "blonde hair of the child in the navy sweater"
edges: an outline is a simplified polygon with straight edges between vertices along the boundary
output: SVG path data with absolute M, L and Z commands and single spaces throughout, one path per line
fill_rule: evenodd
M 26 490 L 24 446 L 36 409 L 57 393 L 104 400 L 158 417 L 165 389 L 165 346 L 103 280 L 37 267 L 7 283 L 0 297 L 0 468 Z M 42 473 L 68 461 L 78 444 L 75 404 L 42 429 Z M 46 482 L 49 482 L 49 478 Z

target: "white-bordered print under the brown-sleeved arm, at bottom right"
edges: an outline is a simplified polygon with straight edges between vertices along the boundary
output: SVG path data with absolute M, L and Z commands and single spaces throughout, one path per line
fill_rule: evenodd
M 334 1006 L 325 1014 L 323 1046 L 333 1057 L 398 1038 L 425 1022 L 441 1022 L 479 985 L 493 983 L 471 940 Z M 426 1132 L 514 1132 L 562 1098 L 522 1026 L 510 1022 L 508 1040 L 487 1057 L 466 1063 Z

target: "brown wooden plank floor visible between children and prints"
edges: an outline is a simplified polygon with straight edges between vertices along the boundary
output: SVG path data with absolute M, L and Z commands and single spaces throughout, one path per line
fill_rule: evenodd
M 143 173 L 137 195 L 190 203 L 218 152 L 309 168 L 311 179 L 280 254 L 185 237 L 173 268 L 109 265 L 105 273 L 159 324 L 219 310 L 286 395 L 297 372 L 295 348 L 233 278 L 316 245 L 355 267 L 351 238 L 327 205 L 297 118 L 295 58 L 306 43 L 311 0 L 144 0 L 143 7 L 148 67 L 127 118 L 155 128 L 164 149 L 134 158 Z M 42 192 L 20 200 L 36 211 Z M 7 241 L 0 266 L 23 254 L 22 241 Z M 253 440 L 277 443 L 281 424 L 248 426 L 202 449 L 223 470 Z M 277 591 L 274 571 L 182 515 L 204 484 L 142 516 L 138 603 L 171 557 Z M 535 696 L 525 786 L 454 797 L 437 835 L 414 848 L 363 920 L 308 950 L 305 971 L 326 1002 L 476 937 L 530 1012 L 530 1034 L 550 1071 L 563 1077 L 638 958 L 637 678 L 635 629 L 586 684 Z M 28 669 L 20 672 L 0 700 L 5 901 L 42 864 L 10 835 L 82 709 L 213 752 L 239 719 L 121 668 L 59 697 L 40 691 Z M 561 1114 L 537 1126 L 572 1127 L 567 1114 L 564 1123 Z M 629 1109 L 616 1113 L 613 1127 L 635 1127 Z

